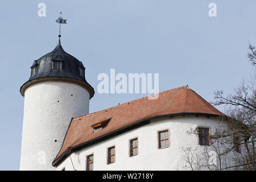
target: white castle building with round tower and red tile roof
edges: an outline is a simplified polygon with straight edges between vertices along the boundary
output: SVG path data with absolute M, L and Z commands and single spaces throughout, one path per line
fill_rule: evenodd
M 94 89 L 60 40 L 34 61 L 20 93 L 20 170 L 187 170 L 184 148 L 203 151 L 210 133 L 226 125 L 187 85 L 89 114 Z

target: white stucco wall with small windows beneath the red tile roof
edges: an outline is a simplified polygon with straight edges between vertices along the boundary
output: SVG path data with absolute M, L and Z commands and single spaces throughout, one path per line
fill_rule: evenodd
M 110 121 L 111 122 L 111 121 Z M 186 170 L 182 147 L 201 147 L 197 135 L 187 131 L 196 127 L 209 127 L 210 132 L 219 126 L 214 118 L 185 116 L 153 119 L 150 124 L 117 135 L 108 140 L 82 148 L 71 155 L 75 169 L 85 170 L 86 156 L 94 155 L 94 170 Z M 158 149 L 158 131 L 169 130 L 170 147 Z M 129 156 L 130 139 L 138 138 L 138 155 Z M 115 146 L 115 162 L 107 164 L 107 150 Z M 57 170 L 73 170 L 71 159 L 66 158 Z M 187 166 L 187 167 L 185 167 Z

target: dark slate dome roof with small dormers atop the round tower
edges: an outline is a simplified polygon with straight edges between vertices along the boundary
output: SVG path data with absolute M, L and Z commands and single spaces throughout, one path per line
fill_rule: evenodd
M 62 70 L 53 70 L 53 61 L 55 60 L 63 61 Z M 35 75 L 31 74 L 28 81 L 25 82 L 20 87 L 20 90 L 28 82 L 31 82 L 33 80 L 38 80 L 39 78 L 47 78 L 47 77 L 71 78 L 74 80 L 84 82 L 87 85 L 88 91 L 90 93 L 90 98 L 93 97 L 94 89 L 85 80 L 85 76 L 80 76 L 80 73 L 79 73 L 79 67 L 84 68 L 84 65 L 82 65 L 82 62 L 77 60 L 76 57 L 73 57 L 64 51 L 64 49 L 60 44 L 60 40 L 58 45 L 55 47 L 55 49 L 52 52 L 49 52 L 46 55 L 40 57 L 38 60 L 35 60 L 31 68 L 35 66 L 37 66 Z

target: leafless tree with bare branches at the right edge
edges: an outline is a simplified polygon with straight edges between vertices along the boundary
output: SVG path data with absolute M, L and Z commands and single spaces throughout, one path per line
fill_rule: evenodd
M 223 90 L 214 92 L 213 105 L 226 105 L 225 115 L 218 118 L 220 126 L 209 136 L 210 146 L 204 150 L 183 148 L 183 159 L 192 170 L 255 170 L 256 169 L 256 48 L 249 45 L 248 58 L 253 74 L 243 80 L 234 93 L 225 95 Z M 194 129 L 188 134 L 199 133 Z M 200 146 L 202 147 L 202 146 Z M 209 163 L 216 155 L 214 163 Z

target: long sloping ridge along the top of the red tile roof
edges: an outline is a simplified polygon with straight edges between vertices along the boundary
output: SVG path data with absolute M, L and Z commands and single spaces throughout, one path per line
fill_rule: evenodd
M 172 92 L 172 91 L 178 90 L 178 89 L 190 89 L 190 88 L 188 88 L 188 85 L 184 85 L 184 86 L 180 86 L 180 87 L 177 87 L 177 88 L 174 88 L 174 89 L 170 89 L 170 90 L 166 90 L 166 91 L 163 91 L 163 92 L 160 92 L 160 93 L 156 93 L 156 94 L 153 94 L 153 95 L 151 95 L 151 96 L 155 96 L 155 95 L 157 95 L 157 94 L 160 95 L 160 94 L 164 94 L 164 93 L 167 93 L 167 92 Z M 104 112 L 104 111 L 106 112 L 106 111 L 115 109 L 115 108 L 117 108 L 117 107 L 122 107 L 122 106 L 125 106 L 125 105 L 128 105 L 128 104 L 134 103 L 134 102 L 138 102 L 138 101 L 144 100 L 144 99 L 146 99 L 146 98 L 148 98 L 148 97 L 149 97 L 149 96 L 137 98 L 137 99 L 135 99 L 135 100 L 128 101 L 128 102 L 125 102 L 125 103 L 123 103 L 123 104 L 116 105 L 116 106 L 113 106 L 113 107 L 109 107 L 109 108 L 107 108 L 107 109 L 103 109 L 103 110 L 96 111 L 96 112 L 93 112 L 93 113 L 81 115 L 81 116 L 79 116 L 79 117 L 73 118 L 73 121 L 77 121 L 77 120 L 79 120 L 79 119 L 81 119 L 81 118 L 89 117 L 89 116 L 94 115 L 94 114 L 98 114 L 98 113 L 101 113 L 101 112 Z

